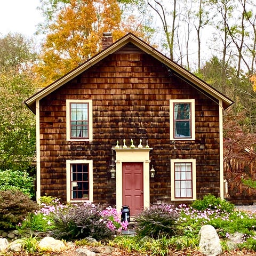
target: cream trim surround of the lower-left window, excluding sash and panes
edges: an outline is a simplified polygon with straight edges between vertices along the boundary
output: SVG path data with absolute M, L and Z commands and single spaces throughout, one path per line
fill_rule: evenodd
M 66 179 L 67 179 L 67 202 L 77 202 L 81 203 L 86 200 L 77 200 L 77 199 L 71 199 L 70 196 L 70 166 L 71 164 L 89 164 L 89 201 L 93 202 L 93 161 L 92 160 L 67 160 L 66 161 Z

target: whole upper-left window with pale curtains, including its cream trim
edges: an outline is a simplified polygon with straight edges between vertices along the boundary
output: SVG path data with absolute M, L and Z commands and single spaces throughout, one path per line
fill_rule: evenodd
M 67 140 L 92 140 L 92 100 L 67 100 Z

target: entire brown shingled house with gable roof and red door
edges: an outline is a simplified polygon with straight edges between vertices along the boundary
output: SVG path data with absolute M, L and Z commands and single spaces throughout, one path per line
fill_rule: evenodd
M 222 113 L 233 101 L 133 34 L 25 103 L 36 114 L 37 198 L 133 215 L 223 197 Z

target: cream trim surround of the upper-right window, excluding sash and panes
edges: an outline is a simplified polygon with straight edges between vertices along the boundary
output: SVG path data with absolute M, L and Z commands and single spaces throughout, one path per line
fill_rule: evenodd
M 191 103 L 191 138 L 177 137 L 174 138 L 174 117 L 173 103 Z M 170 100 L 170 140 L 195 140 L 195 99 Z

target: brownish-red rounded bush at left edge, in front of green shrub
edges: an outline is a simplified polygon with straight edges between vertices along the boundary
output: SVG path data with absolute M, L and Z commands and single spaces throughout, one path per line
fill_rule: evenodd
M 38 205 L 19 190 L 0 191 L 0 228 L 13 228 Z

